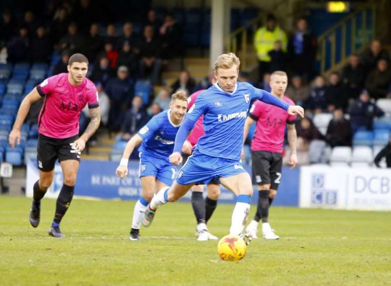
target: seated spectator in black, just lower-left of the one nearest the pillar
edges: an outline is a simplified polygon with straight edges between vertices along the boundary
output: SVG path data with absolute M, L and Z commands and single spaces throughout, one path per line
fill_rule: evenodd
M 152 85 L 160 83 L 162 60 L 160 58 L 160 42 L 153 35 L 152 26 L 145 26 L 143 38 L 140 41 L 140 76 L 145 78 L 150 74 Z

